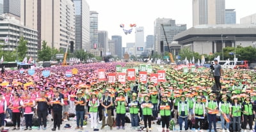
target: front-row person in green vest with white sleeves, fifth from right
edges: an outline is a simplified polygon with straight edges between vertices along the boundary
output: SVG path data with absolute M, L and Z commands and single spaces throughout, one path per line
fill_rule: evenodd
M 201 129 L 203 129 L 203 120 L 204 120 L 204 117 L 205 117 L 205 106 L 204 106 L 204 103 L 202 103 L 202 97 L 201 96 L 197 96 L 196 98 L 196 102 L 194 103 L 194 106 L 193 106 L 193 114 L 194 114 L 194 117 L 196 119 L 196 132 L 198 131 L 198 128 L 199 128 L 199 131 Z M 198 126 L 198 122 L 200 122 L 200 126 Z

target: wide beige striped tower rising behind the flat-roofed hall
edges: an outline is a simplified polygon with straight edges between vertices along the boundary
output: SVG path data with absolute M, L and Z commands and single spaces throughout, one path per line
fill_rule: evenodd
M 193 0 L 193 26 L 225 24 L 225 0 Z

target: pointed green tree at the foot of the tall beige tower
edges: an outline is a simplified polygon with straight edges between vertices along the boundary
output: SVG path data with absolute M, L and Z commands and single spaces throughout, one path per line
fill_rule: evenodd
M 49 46 L 46 45 L 47 42 L 42 42 L 42 49 L 38 51 L 38 60 L 39 61 L 50 61 L 52 57 L 52 50 Z

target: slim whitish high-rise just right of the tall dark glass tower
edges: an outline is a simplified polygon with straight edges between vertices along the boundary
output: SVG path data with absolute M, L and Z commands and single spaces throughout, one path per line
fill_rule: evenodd
M 98 14 L 97 11 L 90 11 L 90 45 L 97 49 L 98 43 Z

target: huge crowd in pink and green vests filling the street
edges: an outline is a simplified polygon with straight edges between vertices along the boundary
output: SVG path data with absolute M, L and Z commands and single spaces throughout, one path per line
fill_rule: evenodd
M 40 125 L 38 130 L 46 130 L 47 116 L 50 116 L 54 121 L 51 130 L 56 131 L 68 119 L 68 114 L 76 114 L 75 129 L 83 129 L 83 121 L 89 117 L 92 129 L 97 129 L 99 124 L 102 124 L 100 129 L 106 125 L 110 129 L 114 126 L 125 129 L 125 117 L 129 114 L 131 129 L 138 129 L 142 123 L 144 130 L 152 131 L 152 121 L 161 118 L 163 131 L 169 131 L 170 121 L 179 124 L 180 131 L 191 128 L 202 131 L 205 121 L 209 131 L 212 128 L 217 131 L 216 122 L 220 115 L 223 132 L 230 129 L 246 131 L 247 124 L 250 131 L 253 130 L 255 71 L 223 70 L 220 75 L 211 77 L 209 69 L 184 73 L 175 66 L 166 65 L 165 82 L 155 84 L 149 74 L 146 84 L 139 80 L 125 84 L 99 82 L 97 70 L 106 69 L 108 78 L 108 73 L 114 73 L 117 64 L 127 68 L 138 66 L 120 62 L 60 66 L 38 69 L 33 76 L 27 72 L 5 71 L 0 77 L 1 130 L 6 118 L 12 119 L 13 130 L 19 130 L 20 117 L 25 117 L 24 130 L 31 130 L 33 117 Z M 72 68 L 79 72 L 66 77 L 65 71 Z M 159 66 L 153 66 L 153 72 L 159 69 Z M 44 77 L 42 70 L 50 70 L 51 75 Z M 217 87 L 220 92 L 212 91 L 215 76 L 220 76 Z M 24 87 L 28 82 L 33 84 Z M 185 129 L 182 129 L 183 122 Z

